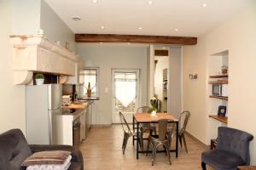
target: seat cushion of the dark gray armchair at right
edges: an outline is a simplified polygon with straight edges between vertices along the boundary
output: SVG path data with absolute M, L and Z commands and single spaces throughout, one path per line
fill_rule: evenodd
M 224 150 L 207 150 L 202 153 L 201 161 L 217 170 L 236 169 L 237 166 L 245 164 L 236 153 Z

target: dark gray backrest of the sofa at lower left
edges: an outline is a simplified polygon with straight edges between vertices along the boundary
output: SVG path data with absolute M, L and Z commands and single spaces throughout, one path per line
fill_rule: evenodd
M 20 169 L 26 157 L 32 155 L 20 129 L 0 134 L 0 169 Z

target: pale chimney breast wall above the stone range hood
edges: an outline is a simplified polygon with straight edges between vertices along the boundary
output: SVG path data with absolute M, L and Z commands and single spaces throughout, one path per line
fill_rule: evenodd
M 73 31 L 55 14 L 44 0 L 12 0 L 13 3 L 13 31 L 12 34 L 38 34 L 44 30 L 44 36 L 54 42 L 60 41 L 65 47 L 76 51 Z

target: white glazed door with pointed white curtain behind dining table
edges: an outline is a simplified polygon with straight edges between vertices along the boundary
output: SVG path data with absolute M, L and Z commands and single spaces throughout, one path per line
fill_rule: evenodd
M 112 122 L 120 123 L 121 111 L 128 123 L 132 123 L 139 100 L 139 70 L 113 69 Z

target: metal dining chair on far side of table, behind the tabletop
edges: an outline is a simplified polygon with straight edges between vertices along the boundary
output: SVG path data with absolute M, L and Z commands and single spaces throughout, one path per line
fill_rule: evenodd
M 137 113 L 148 113 L 150 107 L 148 106 L 141 106 L 139 108 L 137 108 Z M 149 113 L 148 113 L 149 114 Z M 144 144 L 143 144 L 143 134 L 144 133 L 153 133 L 156 134 L 156 127 L 154 126 L 150 126 L 150 123 L 143 123 L 141 124 L 140 128 L 140 135 L 141 135 L 141 139 L 142 139 L 142 150 L 144 150 Z

